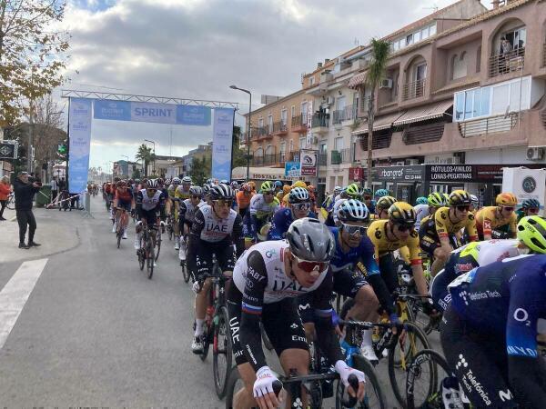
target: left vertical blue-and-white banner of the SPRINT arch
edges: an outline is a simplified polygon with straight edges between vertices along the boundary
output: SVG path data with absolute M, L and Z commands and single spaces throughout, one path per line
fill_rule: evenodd
M 81 193 L 87 187 L 89 148 L 91 145 L 91 100 L 70 98 L 68 112 L 68 186 L 71 193 Z

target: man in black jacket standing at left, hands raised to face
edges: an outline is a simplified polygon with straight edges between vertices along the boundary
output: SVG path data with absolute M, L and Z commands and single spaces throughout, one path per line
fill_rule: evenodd
M 14 183 L 15 212 L 19 224 L 19 248 L 28 249 L 40 244 L 35 243 L 36 220 L 32 213 L 34 195 L 40 190 L 40 183 L 29 180 L 26 172 L 21 172 Z M 28 224 L 28 244 L 25 244 L 26 225 Z

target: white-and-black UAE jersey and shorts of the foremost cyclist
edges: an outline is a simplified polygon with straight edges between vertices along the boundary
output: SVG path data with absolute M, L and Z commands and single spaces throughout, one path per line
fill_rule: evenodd
M 311 306 L 320 317 L 315 328 L 321 350 L 332 363 L 342 359 L 331 321 L 331 273 L 327 269 L 320 273 L 314 284 L 303 287 L 285 272 L 284 254 L 287 249 L 288 243 L 284 240 L 256 244 L 238 259 L 233 271 L 235 285 L 229 288 L 227 304 L 234 353 L 238 364 L 248 361 L 255 370 L 266 365 L 261 348 L 260 321 L 264 326 L 278 322 L 279 327 L 272 333 L 286 340 L 284 345 L 274 344 L 278 354 L 290 343 L 297 343 L 292 347 L 308 349 L 298 310 L 291 300 L 300 294 L 313 294 Z M 237 326 L 237 333 L 234 326 Z M 294 334 L 294 330 L 298 333 Z

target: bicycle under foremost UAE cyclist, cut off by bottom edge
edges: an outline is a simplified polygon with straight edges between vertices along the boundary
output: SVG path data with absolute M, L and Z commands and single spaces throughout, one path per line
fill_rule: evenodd
M 304 399 L 302 396 L 302 390 L 304 390 L 304 393 L 308 394 L 309 396 L 309 403 L 307 407 L 311 409 L 319 409 L 322 407 L 322 401 L 319 400 L 318 402 L 316 400 L 317 396 L 313 395 L 313 391 L 317 390 L 313 384 L 336 380 L 339 381 L 339 374 L 337 372 L 329 372 L 328 374 L 298 375 L 296 370 L 291 369 L 288 376 L 278 377 L 278 382 L 273 384 L 273 390 L 275 391 L 275 394 L 279 394 L 282 387 L 287 385 L 291 407 L 294 409 L 304 409 Z M 241 382 L 239 383 L 239 381 Z M 359 380 L 357 379 L 356 375 L 349 375 L 349 384 L 355 391 L 359 388 Z M 245 385 L 242 384 L 240 374 L 238 373 L 238 368 L 237 366 L 234 366 L 227 381 L 226 409 L 232 409 L 235 407 L 233 404 L 233 399 L 235 395 L 238 394 L 238 391 L 244 387 Z M 354 407 L 355 404 L 357 404 L 357 398 L 349 396 L 347 400 L 342 401 L 340 404 L 340 408 Z

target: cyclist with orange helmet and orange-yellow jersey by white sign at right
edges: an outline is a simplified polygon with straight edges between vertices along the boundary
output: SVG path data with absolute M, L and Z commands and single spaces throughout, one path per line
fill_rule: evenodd
M 482 207 L 476 214 L 476 228 L 480 240 L 514 238 L 518 217 L 514 213 L 518 199 L 511 193 L 501 193 L 495 199 L 496 206 Z M 495 232 L 495 233 L 493 233 Z

